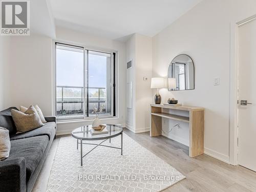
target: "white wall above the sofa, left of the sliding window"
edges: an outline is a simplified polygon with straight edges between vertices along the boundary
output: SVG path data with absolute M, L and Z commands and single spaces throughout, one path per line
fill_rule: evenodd
M 7 41 L 0 51 L 5 58 L 1 65 L 5 70 L 4 104 L 2 109 L 10 106 L 29 106 L 38 104 L 45 115 L 52 114 L 51 38 L 41 35 L 2 37 Z M 2 46 L 1 46 L 2 47 Z

